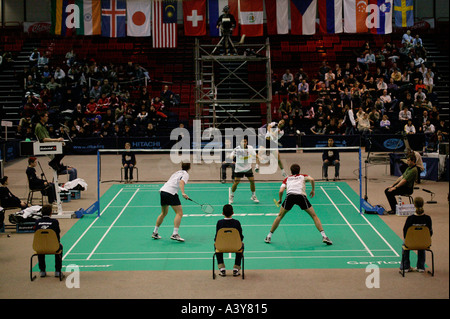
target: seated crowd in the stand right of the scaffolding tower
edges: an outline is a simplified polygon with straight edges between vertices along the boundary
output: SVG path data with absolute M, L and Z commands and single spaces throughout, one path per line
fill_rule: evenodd
M 448 141 L 433 90 L 439 81 L 422 39 L 408 30 L 399 47 L 387 42 L 372 48 L 366 42 L 345 65 L 323 61 L 314 74 L 287 69 L 281 77 L 273 75 L 272 83 L 287 134 L 423 133 L 436 148 Z

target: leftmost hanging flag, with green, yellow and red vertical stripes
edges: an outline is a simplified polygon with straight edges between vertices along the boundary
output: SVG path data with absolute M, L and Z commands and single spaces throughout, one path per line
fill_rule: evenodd
M 52 0 L 51 15 L 52 34 L 71 36 L 79 26 L 79 12 L 75 0 Z

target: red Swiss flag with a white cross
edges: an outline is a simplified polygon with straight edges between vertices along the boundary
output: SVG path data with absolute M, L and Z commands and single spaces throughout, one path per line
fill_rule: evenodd
M 206 35 L 206 0 L 183 1 L 184 35 Z

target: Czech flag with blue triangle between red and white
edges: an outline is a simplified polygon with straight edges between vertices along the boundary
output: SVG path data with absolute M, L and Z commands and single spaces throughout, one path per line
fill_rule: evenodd
M 316 33 L 317 0 L 291 0 L 291 34 Z

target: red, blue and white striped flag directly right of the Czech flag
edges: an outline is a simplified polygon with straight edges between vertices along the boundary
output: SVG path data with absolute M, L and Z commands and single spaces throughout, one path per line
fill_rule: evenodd
M 342 32 L 342 0 L 318 0 L 319 29 L 322 33 Z

